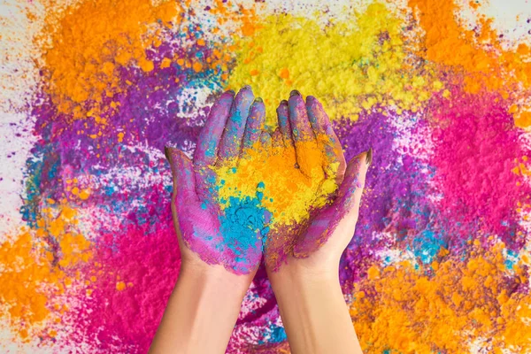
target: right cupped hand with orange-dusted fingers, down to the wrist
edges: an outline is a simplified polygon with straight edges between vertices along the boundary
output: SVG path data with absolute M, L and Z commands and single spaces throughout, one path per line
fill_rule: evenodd
M 313 96 L 307 96 L 304 103 L 303 97 L 293 91 L 289 101 L 279 105 L 277 116 L 273 154 L 293 150 L 293 168 L 318 183 L 313 201 L 325 198 L 326 203 L 308 203 L 306 218 L 292 219 L 270 230 L 265 247 L 268 274 L 272 281 L 282 272 L 292 271 L 337 276 L 342 251 L 358 221 L 372 150 L 346 164 L 327 113 Z M 318 165 L 309 161 L 316 156 L 315 150 L 321 154 L 321 158 L 313 158 L 319 161 Z M 322 173 L 315 173 L 319 169 Z

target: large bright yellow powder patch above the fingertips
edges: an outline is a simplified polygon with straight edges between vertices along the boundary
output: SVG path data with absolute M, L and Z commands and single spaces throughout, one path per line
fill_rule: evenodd
M 384 4 L 325 28 L 283 14 L 262 25 L 252 37 L 235 39 L 237 64 L 228 87 L 250 84 L 265 100 L 269 124 L 292 89 L 319 97 L 331 119 L 356 119 L 376 104 L 416 111 L 431 92 L 443 89 L 427 64 L 421 72 L 412 65 L 407 48 L 415 44 L 404 38 L 406 24 Z

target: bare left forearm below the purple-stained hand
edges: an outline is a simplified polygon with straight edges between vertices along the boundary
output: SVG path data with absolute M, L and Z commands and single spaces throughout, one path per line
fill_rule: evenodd
M 225 352 L 249 281 L 215 268 L 181 267 L 150 354 Z

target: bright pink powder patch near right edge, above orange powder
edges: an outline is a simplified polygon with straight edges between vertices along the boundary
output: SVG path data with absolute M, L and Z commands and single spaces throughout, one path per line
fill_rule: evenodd
M 518 249 L 524 237 L 516 208 L 531 189 L 518 185 L 522 178 L 512 172 L 528 150 L 519 143 L 524 132 L 514 127 L 508 104 L 495 94 L 469 95 L 456 87 L 450 98 L 441 97 L 432 107 L 431 165 L 436 167 L 435 189 L 444 196 L 438 210 L 452 220 L 448 235 L 463 231 L 456 226 L 459 221 L 476 223 L 483 238 L 497 234 Z

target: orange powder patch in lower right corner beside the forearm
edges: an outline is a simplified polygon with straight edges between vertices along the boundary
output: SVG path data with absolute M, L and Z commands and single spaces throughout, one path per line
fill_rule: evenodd
M 439 259 L 431 276 L 410 262 L 370 268 L 354 289 L 365 296 L 350 307 L 364 351 L 457 353 L 481 338 L 492 339 L 498 353 L 531 350 L 531 296 L 512 292 L 527 283 L 529 270 L 507 269 L 503 250 L 503 243 L 490 250 L 476 245 L 466 262 Z

